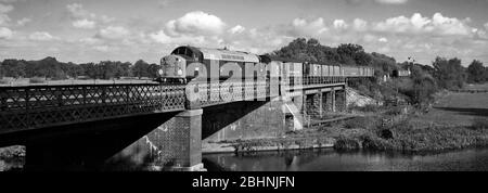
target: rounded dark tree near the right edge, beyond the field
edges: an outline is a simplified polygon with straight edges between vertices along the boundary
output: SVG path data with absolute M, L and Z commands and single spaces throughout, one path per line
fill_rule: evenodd
M 461 60 L 436 57 L 433 63 L 434 76 L 438 85 L 445 89 L 460 89 L 464 86 L 466 74 Z

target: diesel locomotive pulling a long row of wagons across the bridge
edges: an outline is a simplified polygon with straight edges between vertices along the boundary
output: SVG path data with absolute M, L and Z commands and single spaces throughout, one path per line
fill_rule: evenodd
M 203 64 L 205 67 L 202 68 L 205 69 L 191 66 L 193 68 L 192 74 L 190 74 L 187 70 L 193 63 Z M 277 65 L 270 65 L 272 63 Z M 271 66 L 275 66 L 277 69 L 271 69 Z M 193 72 L 198 73 L 193 74 Z M 259 79 L 281 76 L 344 78 L 372 77 L 374 75 L 374 68 L 328 65 L 293 59 L 256 55 L 248 52 L 230 51 L 228 49 L 207 49 L 183 46 L 176 48 L 169 55 L 162 57 L 160 69 L 157 74 L 158 77 L 155 81 L 184 83 L 197 77 L 198 74 L 205 74 L 208 79 L 219 80 L 229 78 Z

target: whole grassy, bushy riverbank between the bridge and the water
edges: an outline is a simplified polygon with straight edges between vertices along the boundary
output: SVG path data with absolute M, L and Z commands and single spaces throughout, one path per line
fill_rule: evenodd
M 373 105 L 355 111 L 364 116 L 306 128 L 281 138 L 206 143 L 203 152 L 320 147 L 436 152 L 488 146 L 488 93 L 442 93 L 428 113 Z

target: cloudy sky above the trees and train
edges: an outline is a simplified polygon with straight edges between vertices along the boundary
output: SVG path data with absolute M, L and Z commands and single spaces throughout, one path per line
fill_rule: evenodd
M 488 66 L 488 0 L 0 0 L 0 61 L 157 63 L 178 46 L 261 54 L 298 37 Z

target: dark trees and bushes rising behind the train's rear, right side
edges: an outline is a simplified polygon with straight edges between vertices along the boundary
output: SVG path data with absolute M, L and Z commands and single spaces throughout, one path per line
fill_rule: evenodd
M 461 89 L 467 83 L 488 81 L 488 67 L 474 60 L 467 67 L 458 57 L 437 56 L 431 65 L 415 62 L 398 63 L 394 57 L 381 53 L 367 53 L 362 46 L 344 43 L 337 48 L 322 46 L 317 39 L 297 38 L 287 46 L 268 53 L 269 55 L 299 59 L 323 64 L 344 64 L 374 67 L 375 78 L 352 82 L 352 87 L 375 98 L 387 98 L 400 93 L 412 104 L 426 105 L 433 101 L 434 93 L 441 90 Z M 381 83 L 384 75 L 393 75 L 395 69 L 410 69 L 407 79 L 393 80 L 391 85 Z

